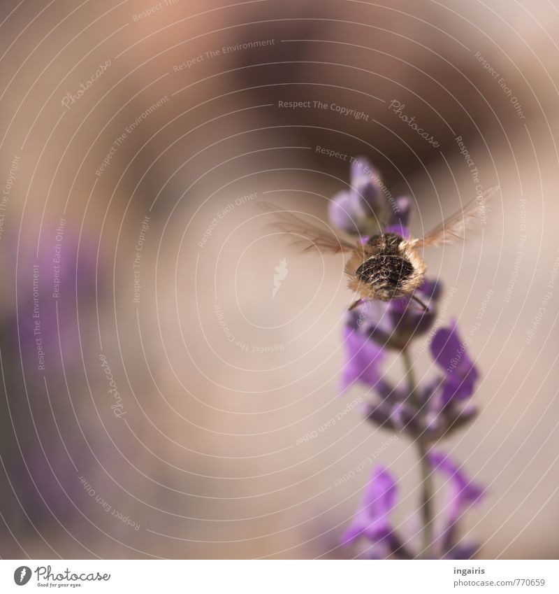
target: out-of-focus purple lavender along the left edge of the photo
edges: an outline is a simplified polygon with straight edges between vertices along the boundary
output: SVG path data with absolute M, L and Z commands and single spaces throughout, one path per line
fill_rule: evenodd
M 96 460 L 88 455 L 96 447 L 94 439 L 87 443 L 81 427 L 78 431 L 75 423 L 64 423 L 68 411 L 80 413 L 82 398 L 71 396 L 57 381 L 56 372 L 64 362 L 64 378 L 72 386 L 82 366 L 82 351 L 92 348 L 80 343 L 76 308 L 82 297 L 83 332 L 93 320 L 97 250 L 92 239 L 82 236 L 80 240 L 70 228 L 61 235 L 59 241 L 54 233 L 46 235 L 48 241 L 41 245 L 38 257 L 36 243 L 20 244 L 15 275 L 19 307 L 17 313 L 15 307 L 6 311 L 0 321 L 4 382 L 7 393 L 13 395 L 10 418 L 18 436 L 16 451 L 13 434 L 0 434 L 0 453 L 22 511 L 36 524 L 50 521 L 51 514 L 61 518 L 73 513 L 68 497 L 75 501 L 83 493 L 76 469 L 61 449 L 61 439 L 81 472 L 91 475 L 96 468 Z

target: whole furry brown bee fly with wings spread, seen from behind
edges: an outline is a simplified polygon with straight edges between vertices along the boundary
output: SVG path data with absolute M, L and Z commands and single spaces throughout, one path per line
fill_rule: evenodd
M 488 201 L 498 190 L 498 186 L 486 190 L 421 239 L 406 239 L 398 233 L 380 232 L 370 236 L 364 243 L 351 243 L 293 213 L 270 204 L 260 204 L 267 211 L 275 213 L 275 220 L 271 223 L 273 228 L 289 234 L 291 243 L 303 252 L 317 248 L 321 253 L 351 254 L 345 273 L 349 278 L 348 286 L 358 299 L 349 309 L 370 299 L 391 301 L 409 297 L 427 310 L 421 299 L 414 295 L 425 278 L 426 265 L 421 257 L 421 248 L 438 247 L 465 239 L 465 230 L 484 214 Z

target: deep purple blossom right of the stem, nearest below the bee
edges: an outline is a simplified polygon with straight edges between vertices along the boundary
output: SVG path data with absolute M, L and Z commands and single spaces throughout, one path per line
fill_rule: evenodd
M 479 374 L 460 340 L 456 321 L 451 327 L 437 331 L 431 343 L 431 354 L 445 374 L 442 404 L 470 398 Z

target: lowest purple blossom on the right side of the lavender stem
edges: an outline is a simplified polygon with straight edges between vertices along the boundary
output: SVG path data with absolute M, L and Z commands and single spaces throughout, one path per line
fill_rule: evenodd
M 446 505 L 448 516 L 440 537 L 442 553 L 444 556 L 455 559 L 460 558 L 457 555 L 473 555 L 476 547 L 456 543 L 456 528 L 463 513 L 472 504 L 476 504 L 481 500 L 484 489 L 468 479 L 448 454 L 431 451 L 428 456 L 433 470 L 439 470 L 448 477 Z

